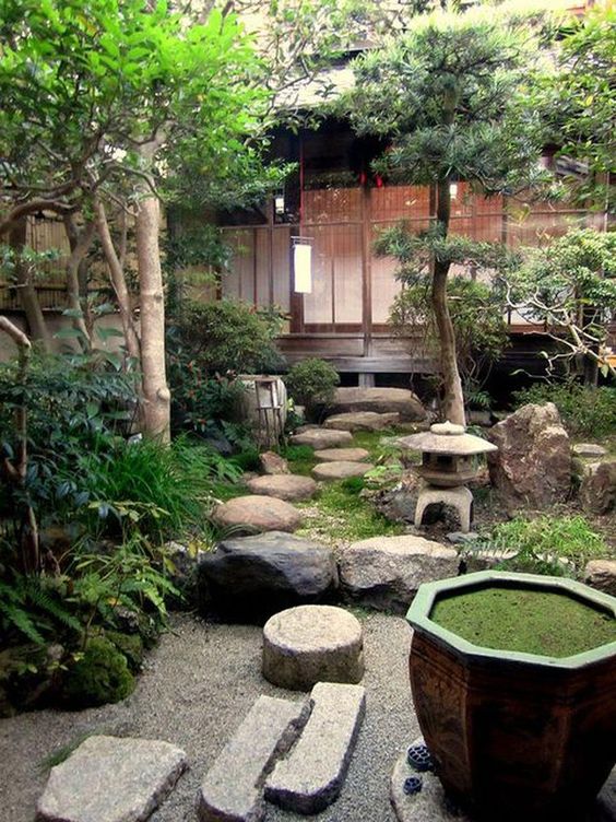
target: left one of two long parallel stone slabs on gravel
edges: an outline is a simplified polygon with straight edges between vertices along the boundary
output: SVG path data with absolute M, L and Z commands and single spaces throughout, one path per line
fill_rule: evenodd
M 201 822 L 259 822 L 265 813 L 263 784 L 309 716 L 307 702 L 259 696 L 203 777 Z

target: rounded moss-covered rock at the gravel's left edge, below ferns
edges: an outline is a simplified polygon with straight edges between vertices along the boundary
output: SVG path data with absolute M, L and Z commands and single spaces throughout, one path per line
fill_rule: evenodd
M 69 707 L 94 707 L 125 700 L 134 685 L 126 656 L 109 639 L 94 636 L 64 676 L 63 698 Z

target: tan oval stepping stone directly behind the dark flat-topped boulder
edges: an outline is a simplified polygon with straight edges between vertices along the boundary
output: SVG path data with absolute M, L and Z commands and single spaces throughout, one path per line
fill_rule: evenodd
M 301 514 L 284 500 L 264 494 L 236 496 L 214 509 L 214 520 L 221 526 L 236 527 L 245 532 L 289 531 L 301 522 Z

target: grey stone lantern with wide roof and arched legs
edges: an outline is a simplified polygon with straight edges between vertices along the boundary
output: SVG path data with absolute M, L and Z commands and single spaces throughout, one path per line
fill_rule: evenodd
M 466 483 L 477 474 L 479 454 L 497 450 L 486 439 L 467 434 L 463 425 L 436 423 L 429 431 L 399 439 L 402 448 L 419 451 L 422 465 L 415 467 L 423 480 L 415 508 L 415 525 L 422 524 L 428 505 L 451 505 L 460 516 L 461 530 L 471 530 L 473 494 Z

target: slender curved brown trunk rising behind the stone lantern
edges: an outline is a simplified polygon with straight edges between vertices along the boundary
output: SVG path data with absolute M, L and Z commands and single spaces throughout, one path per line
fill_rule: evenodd
M 437 221 L 443 236 L 449 231 L 449 218 L 451 213 L 451 195 L 449 179 L 440 180 L 437 186 Z M 435 259 L 433 271 L 431 303 L 435 320 L 438 328 L 440 343 L 440 366 L 445 391 L 443 412 L 446 420 L 466 424 L 464 413 L 464 396 L 462 394 L 462 380 L 458 369 L 455 351 L 455 333 L 447 304 L 447 275 L 449 262 Z

